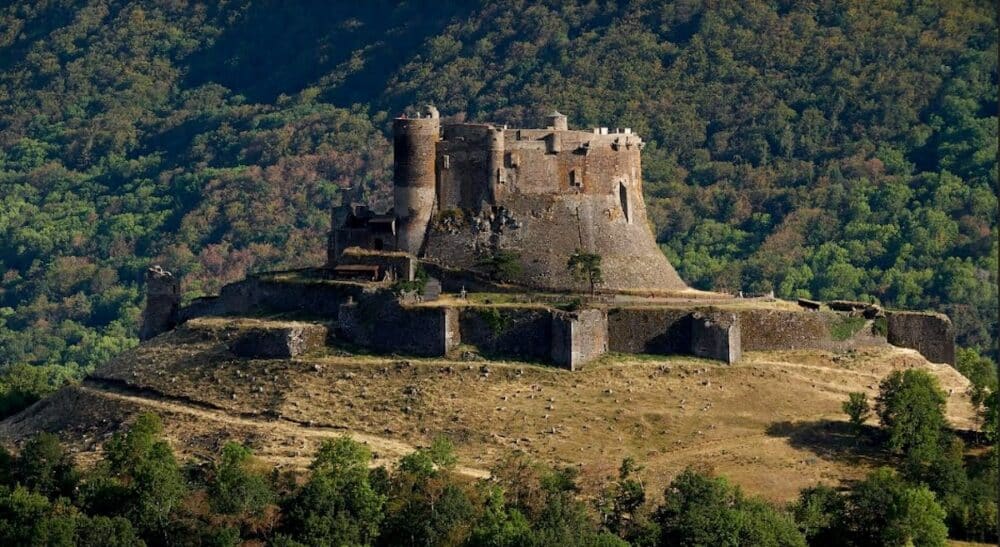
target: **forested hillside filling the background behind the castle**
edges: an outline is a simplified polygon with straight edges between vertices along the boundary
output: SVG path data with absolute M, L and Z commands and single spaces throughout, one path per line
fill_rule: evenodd
M 632 127 L 693 286 L 932 308 L 996 356 L 987 0 L 0 10 L 5 405 L 134 345 L 153 262 L 187 297 L 322 262 L 330 207 L 385 203 L 389 122 L 428 102 Z

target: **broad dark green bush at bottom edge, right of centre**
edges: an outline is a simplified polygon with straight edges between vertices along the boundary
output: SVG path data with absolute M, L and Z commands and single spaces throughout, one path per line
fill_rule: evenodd
M 671 481 L 654 517 L 662 545 L 801 545 L 794 521 L 747 499 L 723 478 L 687 469 Z

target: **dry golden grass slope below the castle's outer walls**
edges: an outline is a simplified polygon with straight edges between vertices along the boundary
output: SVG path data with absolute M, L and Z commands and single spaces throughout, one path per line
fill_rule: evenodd
M 885 463 L 858 445 L 840 404 L 874 396 L 892 370 L 932 372 L 953 426 L 971 428 L 968 381 L 947 365 L 885 347 L 831 354 L 749 353 L 738 365 L 693 358 L 607 358 L 584 371 L 525 363 L 350 355 L 240 360 L 222 331 L 193 324 L 155 338 L 0 423 L 0 438 L 58 432 L 83 459 L 137 413 L 164 417 L 175 449 L 196 459 L 227 440 L 283 468 L 308 464 L 323 438 L 351 435 L 392 462 L 437 435 L 462 471 L 483 476 L 514 450 L 580 465 L 596 487 L 633 456 L 659 492 L 686 466 L 788 500 Z

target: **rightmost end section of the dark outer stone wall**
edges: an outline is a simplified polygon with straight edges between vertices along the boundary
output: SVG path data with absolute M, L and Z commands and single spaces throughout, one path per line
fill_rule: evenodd
M 886 323 L 890 344 L 915 349 L 934 363 L 955 364 L 955 327 L 946 315 L 889 312 Z

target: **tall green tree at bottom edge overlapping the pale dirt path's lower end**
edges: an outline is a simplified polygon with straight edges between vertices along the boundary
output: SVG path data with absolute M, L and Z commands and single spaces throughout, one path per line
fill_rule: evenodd
M 304 545 L 371 545 L 385 496 L 369 480 L 371 453 L 347 437 L 325 441 L 308 482 L 284 504 L 282 533 Z

